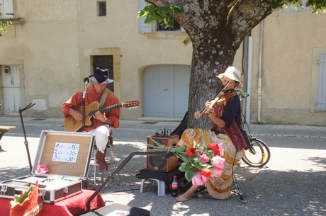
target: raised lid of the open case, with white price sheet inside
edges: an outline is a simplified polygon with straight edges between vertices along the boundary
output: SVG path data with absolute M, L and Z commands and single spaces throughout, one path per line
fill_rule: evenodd
M 94 145 L 89 132 L 63 132 L 43 130 L 40 135 L 32 174 L 38 166 L 47 166 L 47 175 L 87 177 Z

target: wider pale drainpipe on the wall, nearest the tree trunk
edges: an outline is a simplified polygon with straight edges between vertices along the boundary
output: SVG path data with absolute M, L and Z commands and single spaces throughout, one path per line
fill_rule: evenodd
M 249 96 L 252 94 L 252 36 L 251 35 L 248 38 L 247 94 L 249 94 Z M 246 100 L 246 122 L 248 124 L 251 123 L 250 104 L 251 104 L 251 97 L 248 97 Z

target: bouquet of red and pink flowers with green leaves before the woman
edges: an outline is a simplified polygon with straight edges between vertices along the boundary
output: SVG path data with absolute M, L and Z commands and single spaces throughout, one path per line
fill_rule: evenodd
M 154 140 L 152 140 L 155 142 Z M 155 142 L 157 146 L 151 147 L 158 150 L 172 152 L 174 156 L 182 159 L 180 171 L 184 171 L 187 181 L 192 181 L 195 186 L 203 186 L 210 176 L 220 177 L 224 168 L 223 145 L 212 143 L 208 147 L 201 144 L 196 147 L 171 147 L 167 149 L 163 144 Z

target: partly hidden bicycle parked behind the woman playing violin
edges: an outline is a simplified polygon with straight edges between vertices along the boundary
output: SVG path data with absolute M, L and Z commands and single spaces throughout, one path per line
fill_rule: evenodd
M 240 101 L 249 97 L 249 94 L 242 93 L 239 90 L 237 90 L 237 94 L 240 97 Z M 247 164 L 248 166 L 262 167 L 269 162 L 269 159 L 271 159 L 271 151 L 269 150 L 269 147 L 266 142 L 259 140 L 257 137 L 253 137 L 250 134 L 250 127 L 247 121 L 245 120 L 245 115 L 243 115 L 242 110 L 241 116 L 242 129 L 247 132 L 247 136 L 250 141 L 249 148 L 247 150 L 244 150 L 243 152 L 242 161 L 244 161 L 245 164 Z

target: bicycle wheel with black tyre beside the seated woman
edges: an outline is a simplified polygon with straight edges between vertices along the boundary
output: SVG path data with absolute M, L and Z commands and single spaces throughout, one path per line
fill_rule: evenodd
M 262 167 L 269 162 L 271 152 L 265 142 L 257 138 L 250 138 L 250 147 L 244 150 L 242 161 L 252 167 Z

